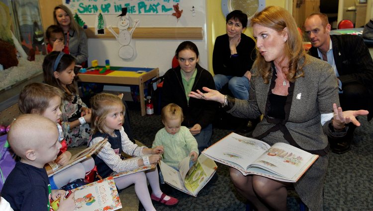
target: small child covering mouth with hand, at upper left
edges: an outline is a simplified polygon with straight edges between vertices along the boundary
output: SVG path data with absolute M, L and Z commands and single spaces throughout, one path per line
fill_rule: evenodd
M 61 26 L 50 25 L 45 32 L 45 37 L 48 41 L 48 54 L 52 51 L 62 51 L 65 54 L 70 54 L 69 48 L 65 46 L 64 30 L 61 28 Z

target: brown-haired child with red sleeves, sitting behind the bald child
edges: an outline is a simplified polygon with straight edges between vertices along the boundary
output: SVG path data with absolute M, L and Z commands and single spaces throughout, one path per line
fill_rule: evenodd
M 31 83 L 23 87 L 18 100 L 19 110 L 23 114 L 38 114 L 57 124 L 62 147 L 54 162 L 59 165 L 65 165 L 71 158 L 71 153 L 67 151 L 67 144 L 64 140 L 62 127 L 59 124 L 62 114 L 60 110 L 62 96 L 63 93 L 57 87 L 44 83 Z M 91 172 L 93 168 L 94 160 L 92 157 L 89 157 L 84 161 L 49 177 L 51 188 L 60 189 L 64 185 L 72 182 L 85 185 L 84 178 L 86 172 Z

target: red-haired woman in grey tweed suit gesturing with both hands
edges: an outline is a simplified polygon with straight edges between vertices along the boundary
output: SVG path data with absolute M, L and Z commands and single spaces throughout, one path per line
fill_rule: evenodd
M 346 135 L 345 124 L 360 126 L 355 117 L 368 111 L 343 112 L 337 107 L 338 86 L 332 67 L 306 55 L 295 21 L 284 8 L 266 7 L 254 15 L 251 26 L 258 54 L 251 70 L 249 100 L 231 98 L 206 87 L 205 93 L 197 90 L 189 96 L 220 102 L 237 117 L 255 119 L 264 115 L 253 132 L 254 138 L 270 145 L 289 143 L 320 155 L 296 183 L 244 176 L 234 168 L 230 168 L 230 177 L 258 211 L 286 211 L 287 188 L 291 186 L 310 210 L 321 211 L 330 149 L 327 136 Z

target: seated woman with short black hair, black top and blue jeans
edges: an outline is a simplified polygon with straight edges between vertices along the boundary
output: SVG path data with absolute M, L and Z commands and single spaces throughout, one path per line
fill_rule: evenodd
M 226 17 L 226 34 L 215 40 L 212 68 L 216 90 L 228 83 L 233 96 L 249 99 L 251 67 L 255 60 L 255 42 L 246 36 L 247 15 L 234 10 Z

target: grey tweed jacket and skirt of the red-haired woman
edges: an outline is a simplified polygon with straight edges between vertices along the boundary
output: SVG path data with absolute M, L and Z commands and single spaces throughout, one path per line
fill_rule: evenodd
M 324 149 L 328 145 L 328 136 L 338 137 L 346 133 L 335 133 L 329 127 L 330 120 L 321 125 L 321 114 L 333 113 L 333 103 L 339 106 L 337 78 L 326 62 L 306 55 L 307 64 L 303 67 L 304 77 L 294 82 L 294 91 L 290 113 L 285 124 L 295 142 L 303 149 Z M 227 111 L 234 116 L 257 118 L 265 114 L 270 83 L 265 84 L 258 70 L 251 70 L 250 97 L 248 101 L 237 100 Z M 273 73 L 273 70 L 272 70 Z M 272 75 L 272 74 L 271 74 Z M 274 124 L 267 122 L 268 117 L 253 131 L 257 137 Z M 272 145 L 276 142 L 288 143 L 281 131 L 271 132 L 262 141 Z M 319 156 L 310 169 L 296 182 L 294 187 L 301 200 L 312 211 L 322 210 L 323 182 L 327 172 L 328 155 Z

